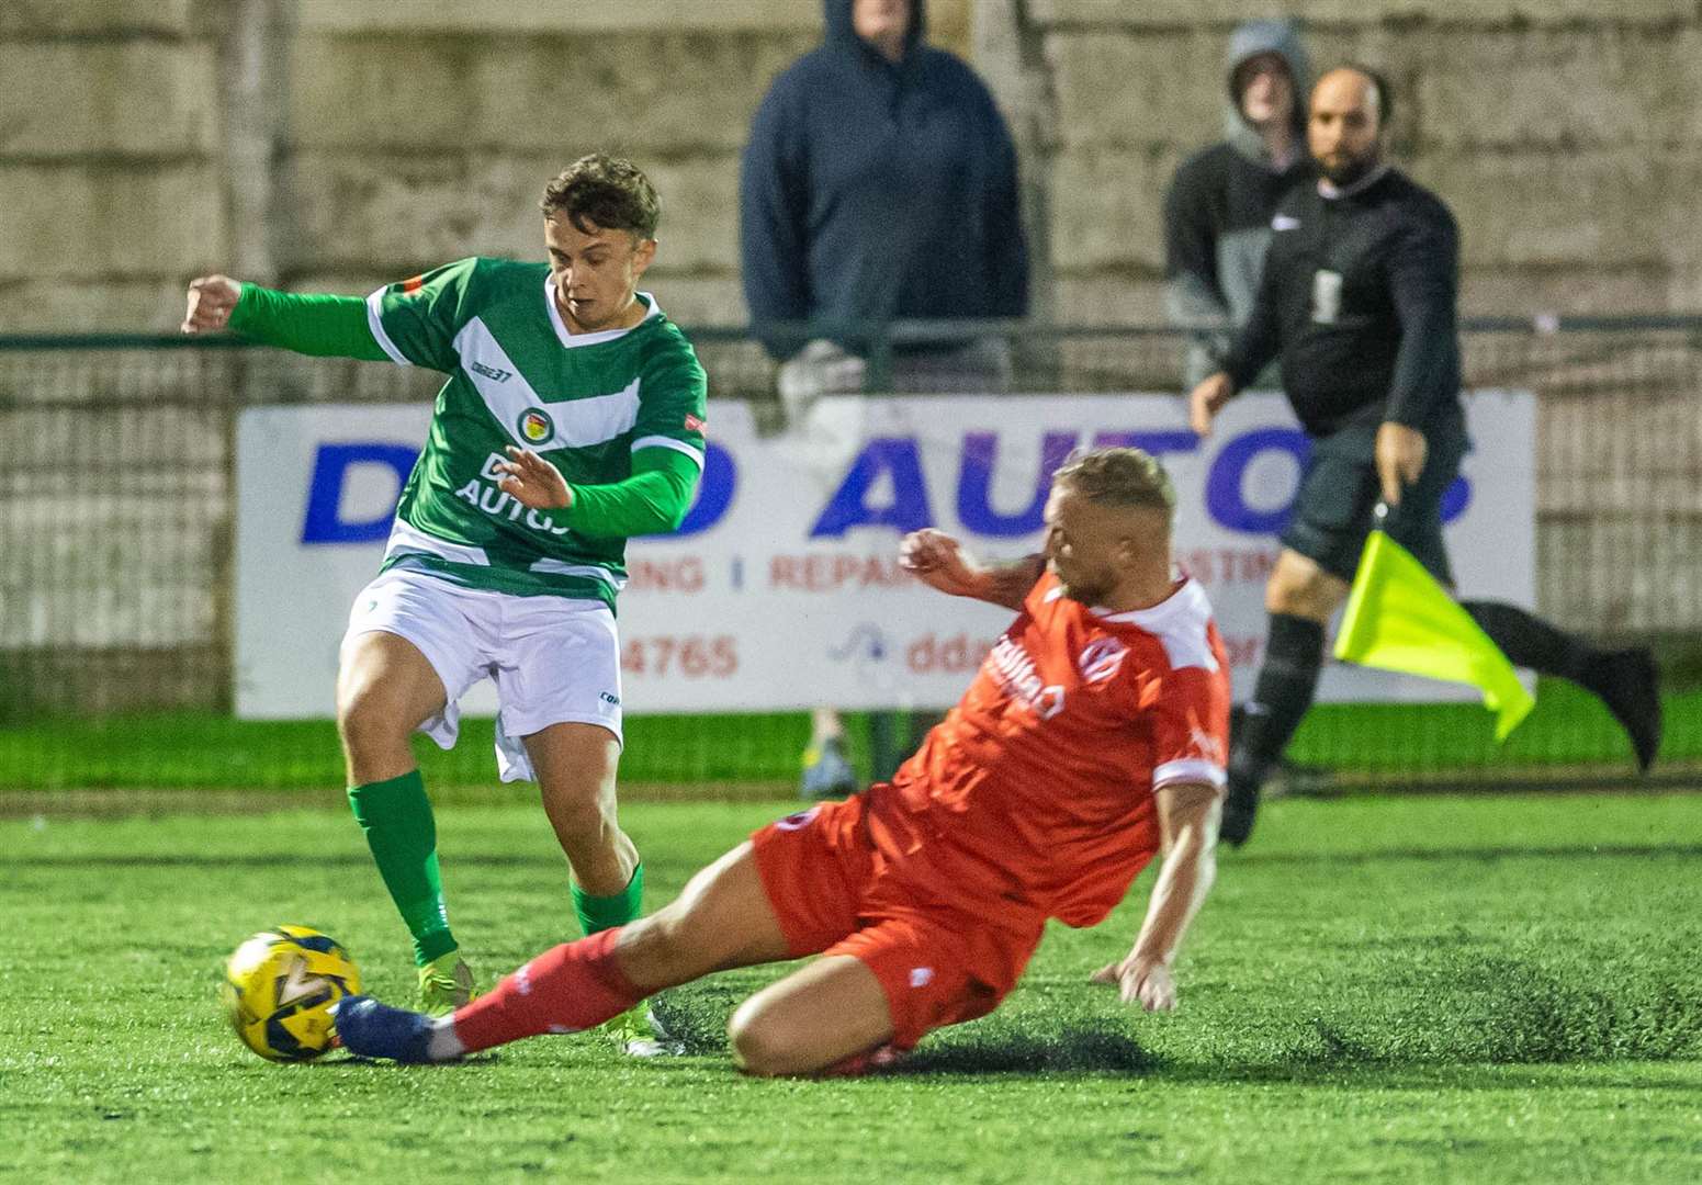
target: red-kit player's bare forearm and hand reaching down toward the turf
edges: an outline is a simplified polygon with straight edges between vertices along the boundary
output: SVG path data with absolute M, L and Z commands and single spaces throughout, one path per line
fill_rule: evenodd
M 1147 919 L 1134 950 L 1093 972 L 1093 982 L 1117 988 L 1125 1005 L 1139 1001 L 1147 1011 L 1169 1011 L 1176 1006 L 1171 977 L 1176 948 L 1217 877 L 1220 805 L 1217 787 L 1203 781 L 1164 787 L 1157 800 L 1164 863 L 1152 885 Z

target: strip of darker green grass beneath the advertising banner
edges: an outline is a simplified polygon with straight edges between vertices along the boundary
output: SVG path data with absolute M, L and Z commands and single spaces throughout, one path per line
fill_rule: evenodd
M 1665 695 L 1658 771 L 1702 775 L 1702 690 Z M 904 724 L 909 724 L 907 720 Z M 866 713 L 849 713 L 851 756 L 870 773 Z M 798 776 L 808 715 L 640 715 L 626 720 L 621 778 L 635 797 L 713 783 L 723 797 L 771 795 Z M 492 722 L 468 718 L 449 753 L 415 746 L 431 787 L 495 780 Z M 1598 700 L 1544 681 L 1537 708 L 1506 744 L 1476 703 L 1324 703 L 1300 727 L 1290 758 L 1350 785 L 1544 776 L 1600 783 L 1632 778 L 1631 746 Z M 342 749 L 330 720 L 233 720 L 213 712 L 0 720 L 0 795 L 65 788 L 335 790 Z

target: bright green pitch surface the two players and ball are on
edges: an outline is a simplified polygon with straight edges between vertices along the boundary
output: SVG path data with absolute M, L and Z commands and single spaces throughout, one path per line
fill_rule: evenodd
M 628 805 L 652 902 L 786 809 Z M 540 810 L 451 805 L 439 838 L 483 979 L 572 931 Z M 1086 982 L 1151 875 L 882 1078 L 732 1069 L 725 1018 L 778 969 L 674 993 L 684 1057 L 577 1035 L 272 1066 L 216 1003 L 250 931 L 318 926 L 376 994 L 412 988 L 344 812 L 0 821 L 0 1178 L 1702 1180 L 1702 795 L 1275 802 L 1220 860 L 1169 1016 Z

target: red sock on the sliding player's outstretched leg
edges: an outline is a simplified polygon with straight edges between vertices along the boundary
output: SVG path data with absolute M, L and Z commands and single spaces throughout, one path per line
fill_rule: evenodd
M 456 1008 L 454 1035 L 473 1052 L 538 1033 L 577 1033 L 620 1016 L 647 994 L 614 964 L 620 936 L 616 926 L 543 952 Z

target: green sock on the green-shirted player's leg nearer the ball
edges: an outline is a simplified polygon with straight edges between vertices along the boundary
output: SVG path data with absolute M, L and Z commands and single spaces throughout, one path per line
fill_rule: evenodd
M 437 821 L 420 771 L 349 787 L 349 805 L 366 833 L 378 875 L 414 935 L 414 962 L 424 967 L 454 950 L 437 872 Z

